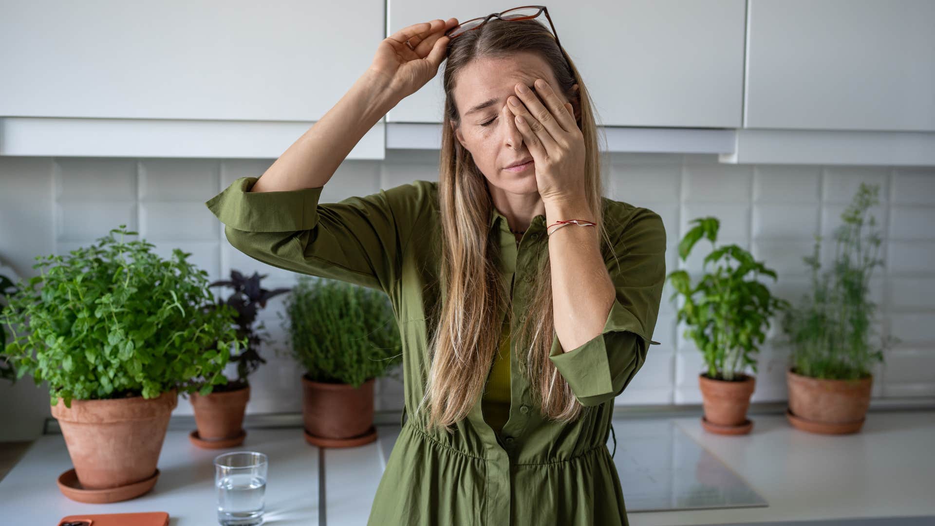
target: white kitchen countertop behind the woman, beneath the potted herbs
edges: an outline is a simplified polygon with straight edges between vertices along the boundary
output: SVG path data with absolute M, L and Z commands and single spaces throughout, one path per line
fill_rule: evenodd
M 673 426 L 690 437 L 706 458 L 716 459 L 720 478 L 733 477 L 762 497 L 766 505 L 634 511 L 640 494 L 627 490 L 632 526 L 795 523 L 799 526 L 854 524 L 935 524 L 935 412 L 870 412 L 863 430 L 853 435 L 817 435 L 798 431 L 785 416 L 751 415 L 748 435 L 724 436 L 701 428 L 698 416 L 614 416 L 618 470 L 630 448 L 627 432 L 642 426 Z M 650 426 L 650 427 L 647 427 Z M 216 524 L 211 460 L 224 451 L 252 449 L 269 456 L 266 521 L 277 525 L 364 525 L 383 466 L 399 431 L 380 425 L 377 442 L 352 448 L 310 446 L 297 428 L 250 429 L 243 445 L 226 450 L 200 449 L 188 431 L 167 431 L 159 460 L 160 477 L 147 494 L 122 503 L 82 504 L 62 495 L 55 478 L 71 468 L 61 434 L 40 437 L 0 481 L 0 509 L 16 524 L 57 524 L 66 515 L 166 511 L 172 526 Z M 611 445 L 612 449 L 612 445 Z M 682 447 L 690 450 L 689 447 Z M 665 449 L 663 449 L 665 450 Z M 672 457 L 678 457 L 673 451 Z M 639 460 L 639 459 L 637 459 Z M 650 462 L 644 462 L 650 463 Z M 672 465 L 675 465 L 673 460 Z M 684 462 L 683 462 L 684 463 Z M 679 464 L 682 465 L 682 464 Z M 685 463 L 689 467 L 691 462 Z M 711 469 L 711 461 L 698 462 Z M 719 467 L 720 466 L 720 467 Z M 320 470 L 319 468 L 324 468 Z M 726 469 L 722 469 L 726 468 Z M 717 469 L 721 469 L 718 472 Z M 729 477 L 725 477 L 726 472 Z M 673 501 L 692 489 L 698 474 L 670 470 L 691 480 L 672 489 Z M 636 472 L 634 472 L 636 473 Z M 658 476 L 653 473 L 655 478 Z M 735 482 L 736 482 L 735 480 Z M 323 482 L 324 481 L 324 482 Z M 679 487 L 680 484 L 673 485 Z M 736 489 L 736 488 L 735 488 Z M 716 491 L 715 491 L 716 493 Z M 324 503 L 320 496 L 324 495 Z M 748 495 L 748 496 L 749 496 Z M 716 500 L 718 495 L 708 495 Z M 35 503 L 43 503 L 36 505 Z M 726 499 L 725 502 L 732 502 Z M 630 505 L 632 503 L 632 505 Z M 886 521 L 884 518 L 911 518 Z M 821 519 L 838 519 L 830 522 Z M 869 520 L 875 519 L 875 520 Z

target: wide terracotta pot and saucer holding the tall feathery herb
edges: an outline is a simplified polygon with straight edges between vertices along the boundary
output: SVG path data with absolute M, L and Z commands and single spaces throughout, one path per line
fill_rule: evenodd
M 789 388 L 787 416 L 798 429 L 825 434 L 860 431 L 870 408 L 872 374 L 858 380 L 826 380 L 789 368 L 785 381 Z

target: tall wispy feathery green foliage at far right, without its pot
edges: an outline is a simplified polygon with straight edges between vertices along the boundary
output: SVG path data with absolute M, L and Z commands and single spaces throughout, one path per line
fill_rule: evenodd
M 861 183 L 841 213 L 830 269 L 819 273 L 822 236 L 815 236 L 812 256 L 802 257 L 812 269 L 812 290 L 783 318 L 794 373 L 827 380 L 865 378 L 873 362 L 884 361 L 884 350 L 900 341 L 886 336 L 880 345 L 870 342 L 877 308 L 870 300 L 870 275 L 885 265 L 878 257 L 882 238 L 873 230 L 876 219 L 869 215 L 870 207 L 880 203 L 879 192 L 879 185 Z M 864 226 L 869 226 L 866 235 Z

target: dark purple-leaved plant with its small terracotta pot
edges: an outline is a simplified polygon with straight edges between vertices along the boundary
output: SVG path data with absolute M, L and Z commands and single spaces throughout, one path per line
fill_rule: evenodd
M 266 301 L 289 292 L 290 288 L 266 290 L 260 286 L 260 280 L 266 274 L 253 272 L 247 277 L 237 270 L 231 270 L 230 280 L 220 280 L 209 286 L 226 286 L 233 292 L 226 300 L 219 300 L 233 309 L 237 316 L 235 328 L 237 338 L 246 342 L 243 352 L 231 354 L 230 362 L 237 364 L 237 378 L 224 377 L 225 383 L 212 385 L 207 394 L 193 392 L 191 395 L 194 409 L 194 421 L 197 429 L 189 439 L 192 444 L 209 449 L 238 446 L 247 436 L 244 431 L 243 416 L 250 401 L 250 382 L 247 376 L 256 371 L 266 359 L 260 356 L 262 343 L 269 341 L 269 333 L 261 321 L 256 323 L 256 314 L 266 307 Z M 255 327 L 254 327 L 255 326 Z

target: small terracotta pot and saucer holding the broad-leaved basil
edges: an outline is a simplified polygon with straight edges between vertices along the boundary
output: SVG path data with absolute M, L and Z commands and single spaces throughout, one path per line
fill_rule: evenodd
M 747 418 L 750 397 L 756 378 L 750 374 L 737 374 L 738 380 L 714 380 L 707 373 L 698 374 L 698 387 L 704 406 L 705 429 L 720 434 L 745 434 L 753 427 Z

